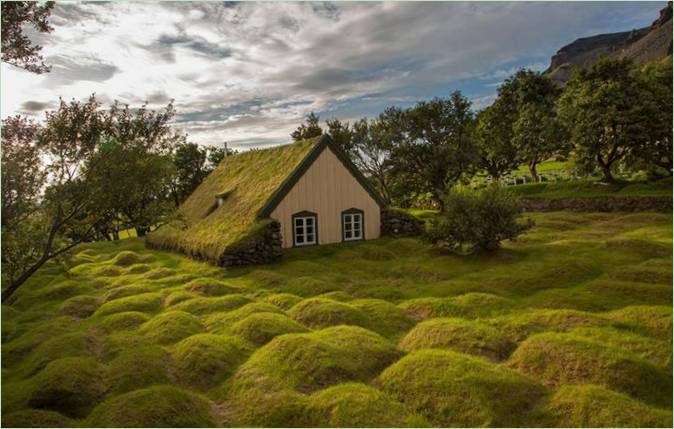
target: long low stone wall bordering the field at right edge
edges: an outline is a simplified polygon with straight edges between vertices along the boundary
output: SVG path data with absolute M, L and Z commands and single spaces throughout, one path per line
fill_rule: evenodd
M 642 212 L 672 211 L 672 197 L 521 198 L 525 211 Z

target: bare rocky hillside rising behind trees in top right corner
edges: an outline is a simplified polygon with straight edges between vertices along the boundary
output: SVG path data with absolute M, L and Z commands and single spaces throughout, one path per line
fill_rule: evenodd
M 642 64 L 672 54 L 672 3 L 660 11 L 649 27 L 621 33 L 583 37 L 564 46 L 552 57 L 546 73 L 564 84 L 573 66 L 587 67 L 602 57 L 629 58 Z

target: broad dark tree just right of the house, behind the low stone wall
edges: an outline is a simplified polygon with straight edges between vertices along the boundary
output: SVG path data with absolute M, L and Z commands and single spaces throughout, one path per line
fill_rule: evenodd
M 472 174 L 477 162 L 470 101 L 456 91 L 449 98 L 422 101 L 399 115 L 391 150 L 395 174 L 403 174 L 442 208 L 448 186 Z

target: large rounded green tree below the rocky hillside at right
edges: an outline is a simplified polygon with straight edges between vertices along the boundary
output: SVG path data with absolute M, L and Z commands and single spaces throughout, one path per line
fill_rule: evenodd
M 612 167 L 648 139 L 652 109 L 629 60 L 604 59 L 577 69 L 560 99 L 579 162 L 598 167 L 614 183 Z

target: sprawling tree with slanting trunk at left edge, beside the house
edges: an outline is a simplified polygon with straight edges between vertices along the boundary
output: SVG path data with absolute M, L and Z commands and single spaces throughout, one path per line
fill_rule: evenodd
M 3 122 L 3 139 L 12 141 L 3 142 L 2 157 L 2 195 L 9 196 L 3 200 L 3 302 L 45 263 L 95 239 L 120 213 L 135 226 L 160 220 L 157 212 L 148 218 L 148 208 L 168 194 L 148 197 L 130 182 L 146 189 L 165 177 L 154 165 L 136 167 L 153 164 L 154 155 L 165 156 L 182 138 L 168 126 L 172 104 L 158 112 L 101 107 L 94 96 L 61 100 L 36 129 L 25 119 Z

